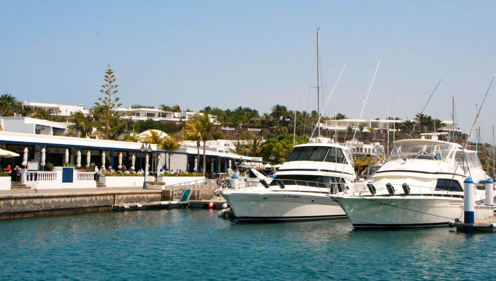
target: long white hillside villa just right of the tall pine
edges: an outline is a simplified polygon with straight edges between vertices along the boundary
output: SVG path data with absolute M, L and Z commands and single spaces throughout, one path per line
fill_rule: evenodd
M 198 113 L 203 115 L 203 113 L 199 112 L 172 112 L 172 111 L 163 111 L 159 109 L 147 109 L 147 108 L 117 108 L 114 112 L 118 114 L 122 114 L 121 118 L 123 119 L 131 119 L 133 121 L 144 121 L 147 119 L 152 119 L 154 121 L 163 121 L 163 122 L 181 122 L 191 119 L 194 114 Z M 210 121 L 217 124 L 217 116 L 208 114 Z

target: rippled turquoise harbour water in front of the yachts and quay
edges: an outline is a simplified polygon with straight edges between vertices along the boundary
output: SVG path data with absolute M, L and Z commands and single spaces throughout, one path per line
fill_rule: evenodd
M 203 209 L 0 221 L 0 279 L 494 280 L 496 233 L 236 223 Z

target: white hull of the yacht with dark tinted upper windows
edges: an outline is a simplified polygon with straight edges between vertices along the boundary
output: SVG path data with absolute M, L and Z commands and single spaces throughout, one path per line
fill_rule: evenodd
M 224 192 L 221 194 L 239 221 L 306 221 L 344 219 L 327 194 L 302 192 Z

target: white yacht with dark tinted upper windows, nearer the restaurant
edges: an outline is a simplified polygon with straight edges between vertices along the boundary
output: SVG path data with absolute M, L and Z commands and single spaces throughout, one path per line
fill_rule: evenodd
M 313 138 L 297 145 L 268 183 L 222 191 L 235 217 L 246 220 L 317 220 L 346 218 L 329 197 L 356 179 L 349 148 Z

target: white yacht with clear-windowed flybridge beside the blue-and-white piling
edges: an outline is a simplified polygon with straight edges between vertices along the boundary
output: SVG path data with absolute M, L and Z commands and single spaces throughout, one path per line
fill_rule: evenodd
M 448 225 L 463 215 L 463 182 L 469 176 L 476 183 L 474 198 L 480 204 L 488 175 L 476 151 L 437 136 L 404 139 L 394 142 L 389 161 L 363 191 L 357 186 L 355 191 L 330 197 L 355 228 Z M 493 209 L 476 204 L 476 219 L 492 217 Z

